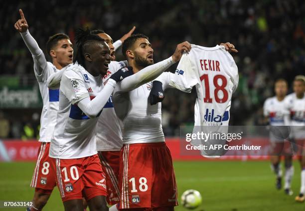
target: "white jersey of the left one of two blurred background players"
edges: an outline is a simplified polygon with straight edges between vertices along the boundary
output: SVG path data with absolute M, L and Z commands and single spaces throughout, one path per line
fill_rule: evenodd
M 269 118 L 270 125 L 285 125 L 284 117 L 289 114 L 285 100 L 279 101 L 276 96 L 267 98 L 264 103 L 264 116 Z

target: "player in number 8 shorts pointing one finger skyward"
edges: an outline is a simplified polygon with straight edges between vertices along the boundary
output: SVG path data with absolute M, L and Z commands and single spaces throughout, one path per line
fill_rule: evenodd
M 43 51 L 28 31 L 28 24 L 21 9 L 19 9 L 19 13 L 21 19 L 15 23 L 14 27 L 20 32 L 22 39 L 32 54 L 34 73 L 43 101 L 39 131 L 39 142 L 41 144 L 31 182 L 31 187 L 35 188 L 35 194 L 33 206 L 28 208 L 28 210 L 37 211 L 42 210 L 53 188 L 56 186 L 56 173 L 50 169 L 52 161 L 48 154 L 56 123 L 59 90 L 49 90 L 46 82 L 51 74 L 72 62 L 73 48 L 66 34 L 60 33 L 51 36 L 47 41 L 47 52 L 52 57 L 52 63 L 47 62 Z

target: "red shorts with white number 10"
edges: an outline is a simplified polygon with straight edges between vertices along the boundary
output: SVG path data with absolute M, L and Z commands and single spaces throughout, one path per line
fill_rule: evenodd
M 107 196 L 105 174 L 98 155 L 77 159 L 54 159 L 57 187 L 63 202 L 86 201 L 96 196 Z

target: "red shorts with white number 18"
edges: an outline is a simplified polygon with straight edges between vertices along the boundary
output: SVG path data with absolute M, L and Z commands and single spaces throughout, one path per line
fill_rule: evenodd
M 178 205 L 171 155 L 164 142 L 124 145 L 120 157 L 120 209 Z

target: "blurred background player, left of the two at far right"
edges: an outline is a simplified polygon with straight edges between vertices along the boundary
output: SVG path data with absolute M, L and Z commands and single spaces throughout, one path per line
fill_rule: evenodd
M 288 91 L 288 83 L 285 79 L 278 79 L 275 82 L 274 91 L 276 96 L 267 98 L 264 103 L 264 116 L 267 118 L 266 122 L 271 126 L 285 125 L 285 116 L 289 111 L 285 106 L 285 97 Z M 285 158 L 285 193 L 292 195 L 291 182 L 294 175 L 294 167 L 292 165 L 292 151 L 291 145 L 285 140 L 276 138 L 270 133 L 270 142 L 272 146 L 271 152 L 271 168 L 277 176 L 276 188 L 282 188 L 282 169 L 281 169 L 281 156 Z

